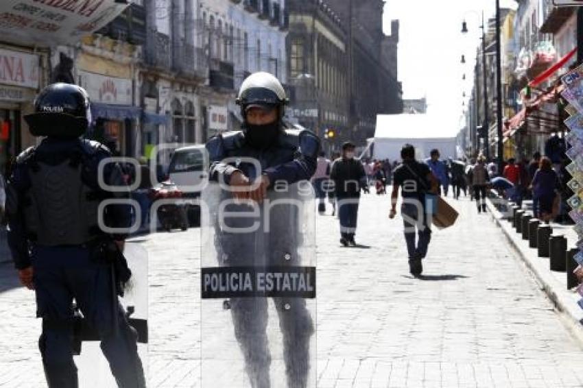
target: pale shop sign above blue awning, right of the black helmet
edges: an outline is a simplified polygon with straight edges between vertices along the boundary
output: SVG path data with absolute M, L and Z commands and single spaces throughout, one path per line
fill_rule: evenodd
M 132 105 L 132 80 L 80 71 L 81 86 L 93 102 Z

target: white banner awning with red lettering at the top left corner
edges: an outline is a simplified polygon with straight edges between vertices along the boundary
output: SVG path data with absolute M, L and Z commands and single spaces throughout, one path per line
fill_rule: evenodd
M 2 0 L 0 35 L 23 45 L 70 45 L 104 27 L 127 6 L 116 0 Z

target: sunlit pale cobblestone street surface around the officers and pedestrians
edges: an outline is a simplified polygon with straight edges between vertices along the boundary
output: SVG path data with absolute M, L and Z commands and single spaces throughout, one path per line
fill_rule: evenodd
M 318 387 L 583 387 L 580 344 L 503 234 L 449 200 L 460 218 L 434 230 L 421 279 L 387 196 L 361 200 L 361 247 L 341 247 L 330 209 L 318 216 Z M 196 228 L 133 239 L 149 254 L 150 387 L 200 386 L 199 241 Z M 45 386 L 34 294 L 7 264 L 0 314 L 0 386 Z

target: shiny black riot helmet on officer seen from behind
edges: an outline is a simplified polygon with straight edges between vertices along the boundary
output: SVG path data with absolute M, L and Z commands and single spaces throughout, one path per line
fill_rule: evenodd
M 34 113 L 24 117 L 33 136 L 75 138 L 91 123 L 89 97 L 73 84 L 51 84 L 34 100 Z

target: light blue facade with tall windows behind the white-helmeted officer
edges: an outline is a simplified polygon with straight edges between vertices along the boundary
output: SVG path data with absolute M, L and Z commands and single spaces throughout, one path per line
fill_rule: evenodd
M 241 124 L 235 105 L 243 80 L 256 71 L 287 82 L 284 0 L 198 0 L 197 45 L 209 59 L 209 82 L 200 86 L 203 138 Z

